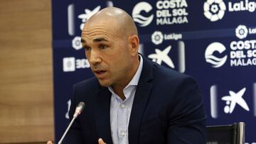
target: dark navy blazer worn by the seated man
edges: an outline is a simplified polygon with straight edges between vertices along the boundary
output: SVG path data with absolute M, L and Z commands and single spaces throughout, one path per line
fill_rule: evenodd
M 129 144 L 206 143 L 206 114 L 198 85 L 181 74 L 143 59 L 129 120 Z M 102 138 L 112 144 L 110 97 L 95 77 L 74 86 L 70 118 L 75 106 L 85 102 L 65 138 L 68 144 L 97 143 Z

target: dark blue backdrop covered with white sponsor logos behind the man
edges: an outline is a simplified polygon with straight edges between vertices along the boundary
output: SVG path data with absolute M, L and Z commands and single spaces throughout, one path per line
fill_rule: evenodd
M 80 43 L 82 27 L 107 6 L 134 19 L 140 52 L 195 77 L 207 125 L 244 121 L 245 142 L 256 138 L 256 1 L 52 1 L 55 140 L 68 123 L 73 84 L 92 77 Z M 85 106 L 86 109 L 86 106 Z

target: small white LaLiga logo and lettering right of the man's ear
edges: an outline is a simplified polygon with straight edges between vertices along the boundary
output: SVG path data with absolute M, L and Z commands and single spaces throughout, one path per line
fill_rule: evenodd
M 155 45 L 163 43 L 164 40 L 179 40 L 181 38 L 181 33 L 163 34 L 161 31 L 154 31 L 154 33 L 151 35 L 151 41 Z

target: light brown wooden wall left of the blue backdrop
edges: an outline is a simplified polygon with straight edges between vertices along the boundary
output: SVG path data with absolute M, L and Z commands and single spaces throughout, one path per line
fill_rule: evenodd
M 0 143 L 53 140 L 50 0 L 0 3 Z

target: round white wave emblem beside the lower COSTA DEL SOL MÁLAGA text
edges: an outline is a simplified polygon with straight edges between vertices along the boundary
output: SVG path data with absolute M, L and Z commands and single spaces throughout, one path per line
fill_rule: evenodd
M 206 52 L 205 52 L 206 62 L 210 63 L 212 67 L 217 68 L 225 64 L 225 61 L 227 60 L 228 56 L 225 55 L 225 57 L 222 57 L 222 58 L 215 57 L 213 55 L 213 52 L 215 51 L 222 53 L 225 51 L 225 46 L 221 43 L 215 42 L 215 43 L 211 43 L 206 48 Z

